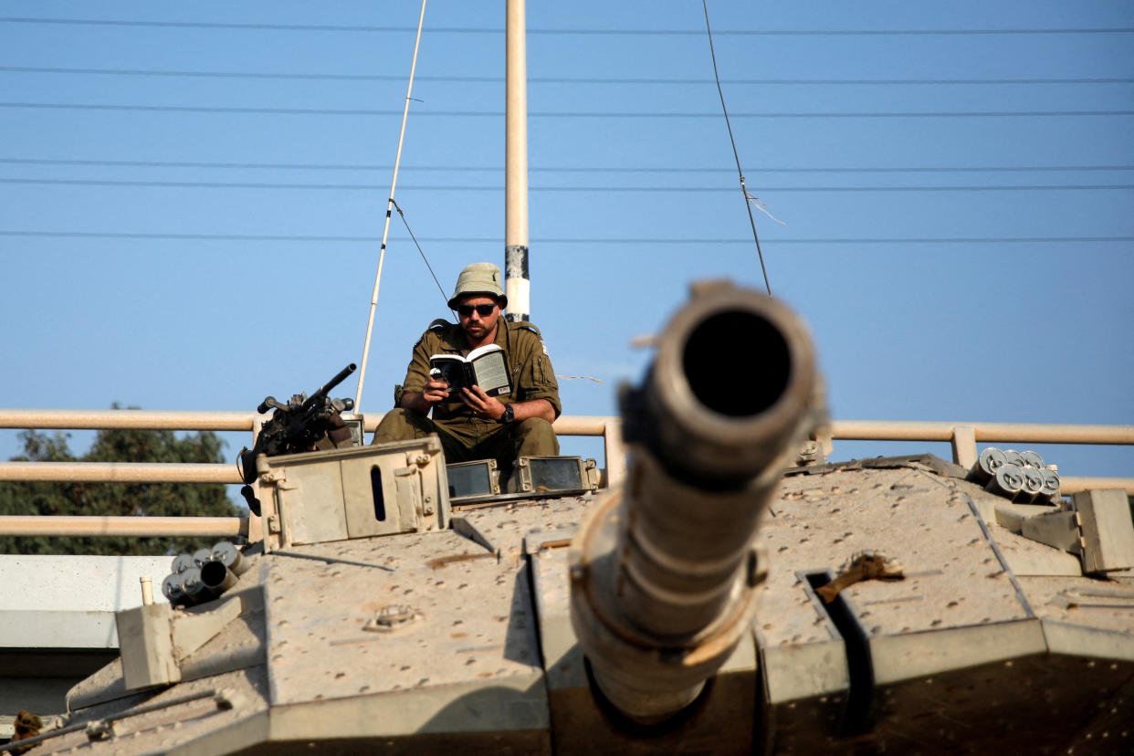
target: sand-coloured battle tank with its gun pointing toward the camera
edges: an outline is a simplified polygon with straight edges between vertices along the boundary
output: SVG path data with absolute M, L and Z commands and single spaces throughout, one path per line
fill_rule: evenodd
M 177 558 L 0 749 L 1134 750 L 1125 494 L 828 461 L 805 326 L 728 282 L 619 404 L 625 484 L 581 494 L 450 501 L 435 439 L 245 457 L 263 540 Z

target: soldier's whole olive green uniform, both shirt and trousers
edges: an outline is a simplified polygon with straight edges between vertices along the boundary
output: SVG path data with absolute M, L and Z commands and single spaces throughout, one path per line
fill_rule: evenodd
M 497 323 L 494 343 L 503 349 L 511 380 L 511 393 L 497 399 L 506 405 L 547 399 L 558 417 L 562 410 L 559 384 L 540 330 L 531 323 L 508 323 L 502 317 Z M 374 432 L 374 443 L 421 439 L 437 433 L 449 461 L 496 459 L 503 469 L 510 468 L 518 456 L 558 455 L 559 442 L 547 421 L 532 417 L 505 425 L 499 421 L 482 419 L 460 401 L 457 392 L 450 393 L 448 401 L 433 406 L 432 419 L 399 407 L 406 391 L 421 393 L 425 390 L 432 355 L 467 355 L 468 351 L 468 339 L 459 325 L 443 320 L 433 321 L 414 345 L 405 384 L 393 391 L 396 409 L 382 418 Z

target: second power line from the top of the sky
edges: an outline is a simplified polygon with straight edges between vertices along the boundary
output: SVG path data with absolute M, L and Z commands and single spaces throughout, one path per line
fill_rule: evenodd
M 180 76 L 197 78 L 251 78 L 251 79 L 295 79 L 295 80 L 342 80 L 342 82 L 403 82 L 405 76 L 388 74 L 312 74 L 312 73 L 272 73 L 272 71 L 208 71 L 208 70 L 162 70 L 144 68 L 56 68 L 37 66 L 0 66 L 0 71 L 9 74 L 66 74 L 99 76 Z M 451 82 L 462 84 L 500 84 L 502 76 L 417 76 L 421 82 Z M 712 84 L 710 78 L 620 78 L 620 77 L 572 77 L 572 76 L 530 76 L 528 84 L 625 84 L 640 86 L 643 84 Z M 721 79 L 721 84 L 767 84 L 767 85 L 979 85 L 979 84 L 1132 84 L 1134 78 L 932 78 L 932 79 L 810 79 L 810 78 L 734 78 Z

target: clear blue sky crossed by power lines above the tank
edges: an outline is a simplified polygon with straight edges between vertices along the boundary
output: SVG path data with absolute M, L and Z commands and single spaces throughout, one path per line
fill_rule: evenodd
M 5 2 L 0 405 L 252 409 L 359 362 L 420 8 Z M 1134 424 L 1134 5 L 709 11 L 747 187 L 786 222 L 756 214 L 771 288 L 833 417 Z M 557 373 L 604 382 L 564 380 L 566 411 L 611 414 L 650 357 L 631 339 L 694 279 L 762 288 L 760 264 L 701 2 L 527 20 L 532 317 Z M 502 1 L 425 11 L 397 201 L 446 291 L 503 257 L 503 25 Z M 363 410 L 443 299 L 395 218 Z M 738 338 L 722 383 L 752 359 Z M 836 456 L 925 449 L 948 453 Z M 1128 448 L 1040 451 L 1134 473 Z

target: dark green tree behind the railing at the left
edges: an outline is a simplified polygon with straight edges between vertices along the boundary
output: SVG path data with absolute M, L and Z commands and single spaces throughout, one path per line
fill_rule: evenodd
M 115 405 L 115 409 L 118 406 Z M 24 455 L 14 461 L 223 462 L 225 442 L 210 431 L 178 438 L 171 431 L 100 431 L 76 458 L 70 434 L 24 431 Z M 102 515 L 137 517 L 237 517 L 242 512 L 219 483 L 14 483 L 0 482 L 0 515 Z M 212 545 L 210 538 L 0 536 L 8 554 L 167 554 Z

